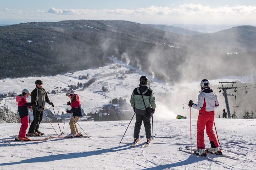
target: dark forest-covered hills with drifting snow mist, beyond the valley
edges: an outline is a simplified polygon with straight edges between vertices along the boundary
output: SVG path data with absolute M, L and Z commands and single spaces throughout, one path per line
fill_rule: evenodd
M 250 74 L 255 70 L 255 31 L 256 27 L 241 26 L 185 36 L 135 22 L 98 20 L 0 26 L 0 78 L 97 68 L 112 62 L 108 56 L 167 82 L 196 74 Z M 227 64 L 231 61 L 232 66 Z M 207 72 L 215 70 L 220 72 L 209 77 Z

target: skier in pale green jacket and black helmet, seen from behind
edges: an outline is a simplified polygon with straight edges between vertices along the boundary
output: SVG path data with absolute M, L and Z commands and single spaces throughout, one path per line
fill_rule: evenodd
M 150 124 L 151 118 L 146 117 L 145 112 L 146 112 L 146 108 L 151 106 L 152 113 L 154 113 L 156 104 L 155 104 L 155 95 L 153 93 L 153 90 L 147 87 L 147 82 L 148 82 L 148 78 L 146 76 L 140 77 L 139 87 L 133 90 L 131 95 L 131 100 L 130 100 L 133 111 L 136 114 L 136 122 L 135 122 L 134 132 L 133 132 L 135 143 L 137 142 L 140 135 L 142 120 L 143 120 L 144 128 L 146 131 L 147 143 L 149 143 L 151 139 L 151 124 Z M 141 96 L 141 92 L 143 95 L 145 105 Z

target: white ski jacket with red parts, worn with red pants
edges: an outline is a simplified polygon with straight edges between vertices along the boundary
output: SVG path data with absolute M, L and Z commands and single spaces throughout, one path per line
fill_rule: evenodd
M 216 107 L 219 107 L 219 101 L 216 94 L 210 87 L 206 87 L 199 91 L 198 102 L 193 104 L 192 107 L 199 110 L 202 114 L 214 114 Z

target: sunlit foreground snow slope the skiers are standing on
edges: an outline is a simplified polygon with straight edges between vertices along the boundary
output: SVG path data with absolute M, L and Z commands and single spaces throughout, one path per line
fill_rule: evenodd
M 155 113 L 156 116 L 160 113 Z M 20 124 L 0 124 L 0 169 L 256 169 L 256 120 L 215 119 L 218 137 L 225 155 L 233 160 L 208 155 L 220 162 L 214 163 L 202 157 L 183 153 L 179 147 L 190 146 L 190 119 L 157 120 L 153 123 L 155 139 L 144 148 L 146 139 L 134 148 L 133 120 L 119 144 L 129 121 L 79 122 L 90 138 L 48 139 L 44 142 L 7 142 L 13 139 Z M 196 124 L 192 119 L 192 148 L 196 148 Z M 58 124 L 53 124 L 59 132 Z M 60 123 L 63 127 L 63 123 Z M 49 123 L 40 130 L 54 134 Z M 64 132 L 69 133 L 68 124 Z M 82 131 L 79 127 L 79 131 Z M 142 125 L 140 135 L 144 135 Z M 43 137 L 30 137 L 43 138 Z M 210 146 L 205 134 L 205 144 Z

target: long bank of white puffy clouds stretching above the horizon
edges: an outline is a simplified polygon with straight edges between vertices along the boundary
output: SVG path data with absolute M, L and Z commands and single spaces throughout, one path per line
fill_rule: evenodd
M 181 4 L 178 8 L 151 6 L 139 9 L 55 9 L 51 8 L 47 13 L 59 15 L 255 15 L 255 6 L 228 5 L 211 8 L 201 4 Z

